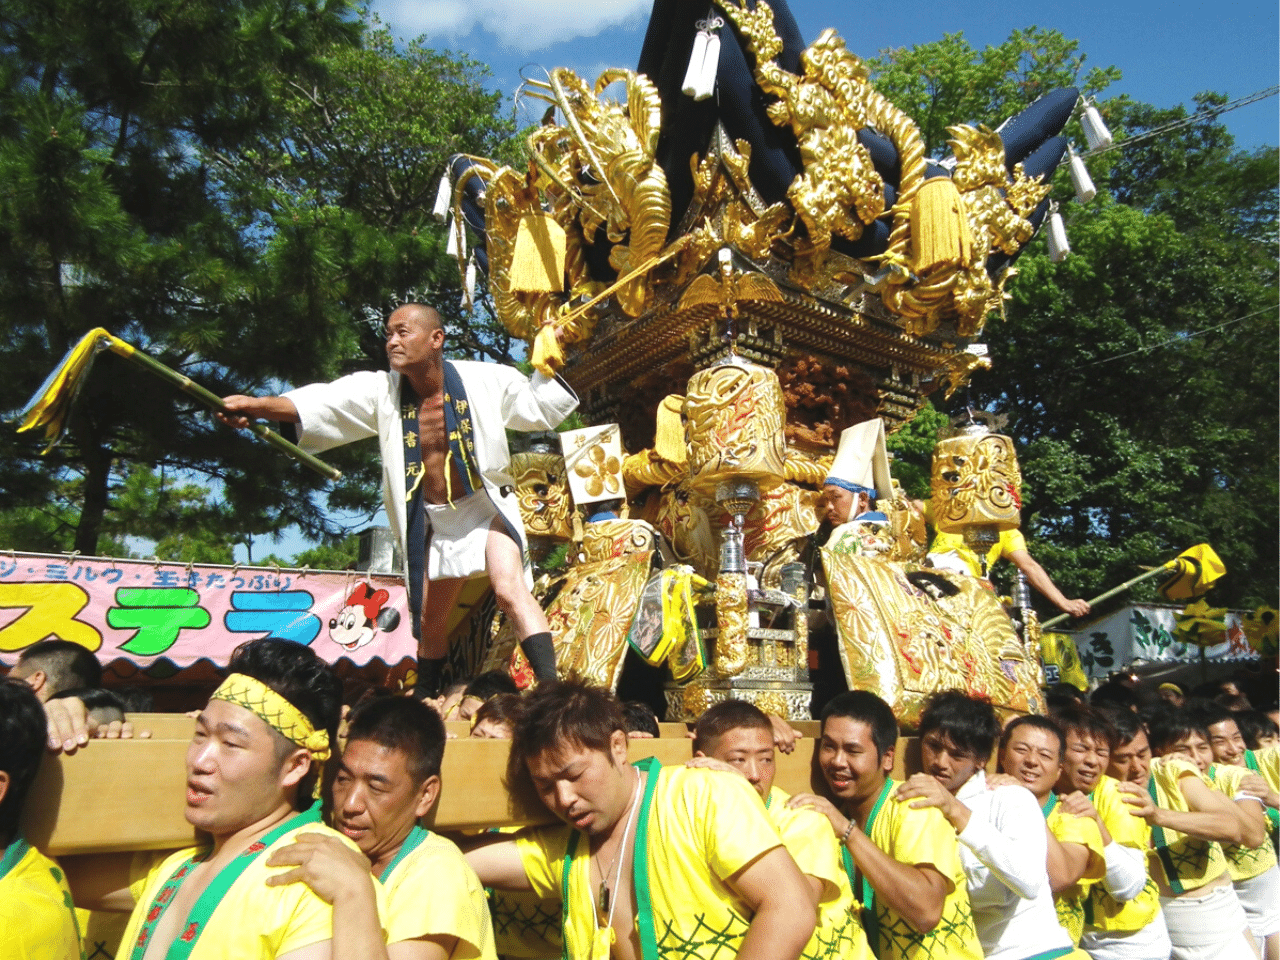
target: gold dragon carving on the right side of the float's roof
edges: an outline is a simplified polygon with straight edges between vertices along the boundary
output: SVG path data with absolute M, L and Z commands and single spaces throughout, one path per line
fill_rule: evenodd
M 740 0 L 724 0 L 721 8 L 755 55 L 756 82 L 778 97 L 768 108 L 769 118 L 790 125 L 800 146 L 804 172 L 787 196 L 810 246 L 797 246 L 792 278 L 812 280 L 823 266 L 832 234 L 858 239 L 865 224 L 883 212 L 884 184 L 856 136 L 858 129 L 872 127 L 893 143 L 901 164 L 888 250 L 879 257 L 888 268 L 881 292 L 884 306 L 918 337 L 947 319 L 955 320 L 957 335 L 975 335 L 987 314 L 1000 306 L 1004 289 L 1004 276 L 992 280 L 987 274 L 987 257 L 997 250 L 1015 252 L 1030 238 L 1027 218 L 1047 196 L 1048 184 L 1028 179 L 1020 166 L 1010 177 L 993 131 L 950 127 L 948 142 L 957 160 L 952 177 L 957 214 L 972 242 L 961 244 L 955 259 L 914 273 L 913 233 L 920 224 L 913 210 L 925 183 L 924 142 L 916 124 L 872 87 L 865 65 L 833 31 L 824 31 L 801 54 L 804 76 L 797 77 L 773 61 L 782 40 L 764 0 L 754 10 Z M 969 371 L 952 372 L 964 376 Z

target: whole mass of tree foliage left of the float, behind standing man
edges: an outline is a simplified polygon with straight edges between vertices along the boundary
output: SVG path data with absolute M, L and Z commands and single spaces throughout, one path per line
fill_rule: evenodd
M 275 392 L 385 362 L 367 316 L 393 294 L 461 314 L 428 216 L 447 156 L 509 132 L 477 64 L 397 49 L 348 0 L 14 0 L 0 70 L 4 410 L 95 326 L 216 393 Z M 328 506 L 371 512 L 374 452 L 328 458 L 348 477 Z M 6 430 L 0 463 L 0 529 L 28 548 L 74 517 L 69 547 L 116 549 L 143 468 L 207 477 L 219 516 L 186 508 L 219 538 L 344 532 L 319 477 L 111 355 L 63 447 Z

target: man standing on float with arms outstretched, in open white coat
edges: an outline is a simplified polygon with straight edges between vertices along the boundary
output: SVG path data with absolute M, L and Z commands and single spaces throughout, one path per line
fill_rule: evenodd
M 250 417 L 296 424 L 298 444 L 311 452 L 378 438 L 383 500 L 406 558 L 419 637 L 417 696 L 438 695 L 448 613 L 466 580 L 481 572 L 534 675 L 554 680 L 550 630 L 524 561 L 506 431 L 554 429 L 577 397 L 540 372 L 526 378 L 499 364 L 445 360 L 440 315 L 421 303 L 388 317 L 387 358 L 389 372 L 361 371 L 279 397 L 225 397 L 229 416 L 221 419 L 232 426 Z

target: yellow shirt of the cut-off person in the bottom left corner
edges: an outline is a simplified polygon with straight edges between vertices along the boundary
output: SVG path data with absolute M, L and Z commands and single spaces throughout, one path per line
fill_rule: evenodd
M 23 840 L 0 847 L 0 957 L 79 960 L 72 892 L 56 863 Z

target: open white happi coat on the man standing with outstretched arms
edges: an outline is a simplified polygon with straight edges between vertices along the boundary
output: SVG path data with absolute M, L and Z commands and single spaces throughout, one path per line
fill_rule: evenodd
M 525 556 L 525 525 L 515 493 L 516 481 L 511 476 L 507 430 L 553 430 L 577 407 L 577 397 L 563 380 L 536 371 L 526 378 L 500 364 L 451 362 L 467 392 L 480 480 L 494 506 L 520 535 L 520 552 Z M 300 387 L 283 396 L 298 410 L 298 445 L 305 451 L 320 453 L 366 436 L 378 438 L 383 456 L 383 503 L 404 557 L 407 584 L 408 520 L 399 394 L 399 374 L 370 370 L 333 383 Z

